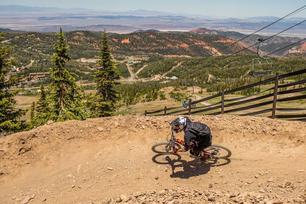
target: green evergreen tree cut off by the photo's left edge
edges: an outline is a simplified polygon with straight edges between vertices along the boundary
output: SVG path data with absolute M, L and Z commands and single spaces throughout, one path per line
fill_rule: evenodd
M 0 32 L 0 39 L 3 33 Z M 26 110 L 15 110 L 14 105 L 19 90 L 9 90 L 11 86 L 18 84 L 22 79 L 20 77 L 6 78 L 6 74 L 11 69 L 11 65 L 16 59 L 11 59 L 11 51 L 13 47 L 0 47 L 0 132 L 18 132 L 26 128 L 25 121 L 20 121 L 20 117 L 25 115 Z

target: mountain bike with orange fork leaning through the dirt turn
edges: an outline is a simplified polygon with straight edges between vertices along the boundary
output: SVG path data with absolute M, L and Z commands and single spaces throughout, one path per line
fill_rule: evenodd
M 152 151 L 158 154 L 174 154 L 173 148 L 181 149 L 181 145 L 185 146 L 185 141 L 176 139 L 174 136 L 174 127 L 171 128 L 171 138 L 167 142 L 156 143 L 152 146 Z M 195 146 L 195 142 L 191 141 L 190 145 Z M 210 145 L 203 150 L 204 153 L 211 155 L 212 159 L 226 159 L 232 155 L 230 149 L 222 145 Z

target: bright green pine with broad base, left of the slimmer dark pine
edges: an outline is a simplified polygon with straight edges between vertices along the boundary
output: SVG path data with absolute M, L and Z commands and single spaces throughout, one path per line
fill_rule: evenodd
M 55 55 L 52 55 L 52 61 L 56 67 L 50 69 L 51 77 L 54 79 L 49 85 L 53 88 L 51 97 L 54 105 L 52 107 L 51 118 L 56 121 L 68 119 L 83 120 L 87 114 L 82 111 L 84 108 L 80 96 L 80 86 L 75 82 L 76 74 L 65 69 L 66 61 L 72 60 L 67 54 L 70 50 L 69 45 L 65 44 L 65 36 L 60 28 L 58 43 L 54 43 Z

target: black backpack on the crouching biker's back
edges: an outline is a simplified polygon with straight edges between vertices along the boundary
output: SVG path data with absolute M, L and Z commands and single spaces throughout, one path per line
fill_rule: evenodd
M 190 131 L 192 134 L 197 135 L 196 141 L 200 143 L 211 142 L 211 130 L 203 123 L 191 122 L 187 123 L 186 131 Z

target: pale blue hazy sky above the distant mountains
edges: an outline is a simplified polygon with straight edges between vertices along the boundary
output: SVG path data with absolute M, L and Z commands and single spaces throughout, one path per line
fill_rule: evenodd
M 0 5 L 87 8 L 110 11 L 146 9 L 227 17 L 283 17 L 305 6 L 306 0 L 0 0 Z M 292 17 L 306 17 L 306 9 Z

